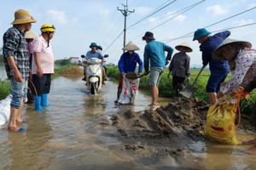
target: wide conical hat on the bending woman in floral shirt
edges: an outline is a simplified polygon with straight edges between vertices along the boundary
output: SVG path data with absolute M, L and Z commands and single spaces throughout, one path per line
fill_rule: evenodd
M 221 42 L 218 46 L 218 48 L 216 48 L 213 53 L 212 53 L 212 58 L 213 59 L 217 59 L 217 60 L 224 60 L 224 56 L 222 54 L 220 54 L 220 51 L 226 47 L 229 44 L 234 44 L 236 43 L 236 45 L 240 46 L 240 48 L 252 48 L 252 43 L 250 42 L 246 42 L 246 41 L 240 41 L 240 40 L 236 40 L 236 39 L 230 39 L 230 38 L 226 38 L 224 39 L 223 42 Z

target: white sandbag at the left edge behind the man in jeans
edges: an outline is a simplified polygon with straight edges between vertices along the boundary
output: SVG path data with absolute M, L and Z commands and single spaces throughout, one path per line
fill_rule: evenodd
M 9 94 L 9 96 L 0 101 L 0 126 L 9 121 L 11 99 L 12 95 Z

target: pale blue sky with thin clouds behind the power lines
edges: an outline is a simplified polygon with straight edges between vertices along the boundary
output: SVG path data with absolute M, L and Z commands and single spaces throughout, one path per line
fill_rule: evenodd
M 3 37 L 12 26 L 15 11 L 22 8 L 37 20 L 32 24 L 36 35 L 44 23 L 55 26 L 51 40 L 55 59 L 80 58 L 90 50 L 90 42 L 96 42 L 102 46 L 103 54 L 109 55 L 107 63 L 117 64 L 123 53 L 125 24 L 118 8 L 124 9 L 126 3 L 132 12 L 126 17 L 125 43 L 135 42 L 142 59 L 146 31 L 152 31 L 156 41 L 174 48 L 174 53 L 175 46 L 188 42 L 193 48 L 188 53 L 192 66 L 201 65 L 200 44 L 192 41 L 198 28 L 206 28 L 212 35 L 230 30 L 230 38 L 256 46 L 254 0 L 9 0 L 0 10 L 0 35 Z

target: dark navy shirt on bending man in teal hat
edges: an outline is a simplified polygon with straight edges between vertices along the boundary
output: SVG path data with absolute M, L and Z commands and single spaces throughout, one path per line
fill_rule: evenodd
M 200 50 L 202 52 L 203 65 L 209 63 L 209 68 L 212 75 L 223 75 L 230 72 L 230 66 L 227 60 L 219 61 L 212 59 L 213 51 L 218 48 L 218 45 L 230 36 L 230 31 L 222 31 L 207 38 L 201 43 Z

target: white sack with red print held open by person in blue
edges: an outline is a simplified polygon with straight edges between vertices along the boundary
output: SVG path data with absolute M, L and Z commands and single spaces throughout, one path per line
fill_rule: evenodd
M 119 95 L 118 103 L 122 105 L 134 105 L 137 97 L 140 79 L 123 78 L 122 92 Z

